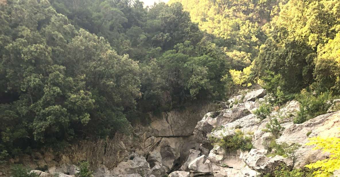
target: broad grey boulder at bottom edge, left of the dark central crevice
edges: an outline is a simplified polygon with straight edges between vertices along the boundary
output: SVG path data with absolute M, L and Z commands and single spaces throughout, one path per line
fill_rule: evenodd
M 117 167 L 113 168 L 111 175 L 147 174 L 150 170 L 150 165 L 145 157 L 132 153 L 126 161 L 120 162 Z

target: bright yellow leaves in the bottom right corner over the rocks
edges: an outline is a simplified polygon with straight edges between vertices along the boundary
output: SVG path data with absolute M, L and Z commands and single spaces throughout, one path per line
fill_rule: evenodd
M 323 152 L 330 153 L 328 159 L 319 160 L 315 163 L 306 165 L 307 168 L 318 169 L 313 173 L 315 177 L 330 177 L 335 170 L 340 168 L 340 138 L 320 138 L 313 137 L 309 139 L 306 145 L 316 145 L 314 149 L 321 149 Z

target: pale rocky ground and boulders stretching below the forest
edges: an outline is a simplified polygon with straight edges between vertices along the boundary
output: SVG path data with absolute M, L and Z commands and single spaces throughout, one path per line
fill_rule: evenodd
M 211 110 L 211 106 L 205 106 L 199 111 L 172 111 L 163 113 L 161 118 L 154 117 L 148 128 L 141 128 L 135 133 L 137 138 L 121 137 L 124 141 L 116 140 L 106 145 L 105 152 L 99 156 L 98 162 L 91 162 L 95 166 L 94 176 L 162 177 L 169 174 L 170 177 L 256 177 L 272 172 L 282 163 L 289 167 L 302 168 L 305 164 L 328 157 L 327 154 L 312 150 L 312 146 L 304 144 L 313 136 L 338 136 L 339 111 L 330 111 L 303 124 L 293 124 L 292 119 L 299 111 L 299 102 L 290 101 L 272 112 L 268 118 L 259 120 L 253 111 L 261 102 L 266 101 L 266 97 L 265 90 L 259 89 L 234 96 L 222 104 L 225 106 L 222 110 L 208 112 L 204 116 L 201 112 Z M 203 118 L 197 118 L 198 116 Z M 294 158 L 278 155 L 267 157 L 271 151 L 266 143 L 272 134 L 264 129 L 273 117 L 285 128 L 275 141 L 301 145 L 295 151 Z M 227 151 L 217 145 L 211 145 L 211 139 L 233 134 L 236 129 L 252 139 L 253 149 Z M 110 147 L 113 152 L 107 154 L 106 151 L 110 150 Z M 98 150 L 95 146 L 86 149 L 92 154 L 96 154 Z M 89 154 L 82 152 L 83 154 L 76 153 L 76 157 Z M 70 157 L 72 156 L 62 156 L 47 172 L 35 172 L 40 177 L 51 177 L 55 173 L 60 177 L 73 176 L 77 173 L 77 166 L 72 164 L 74 161 L 65 160 Z M 45 154 L 38 159 L 44 158 Z M 113 162 L 111 158 L 117 159 Z M 44 162 L 48 164 L 48 160 L 45 159 Z M 81 158 L 78 157 L 77 160 Z M 55 158 L 51 161 L 55 161 Z

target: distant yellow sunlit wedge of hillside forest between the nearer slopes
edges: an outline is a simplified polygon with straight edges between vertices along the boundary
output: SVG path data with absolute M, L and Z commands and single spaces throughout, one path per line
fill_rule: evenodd
M 181 2 L 190 12 L 191 19 L 202 30 L 218 38 L 214 41 L 225 47 L 227 54 L 242 62 L 242 70 L 257 57 L 259 48 L 266 40 L 261 27 L 279 12 L 279 3 L 273 1 L 238 0 L 171 0 Z

